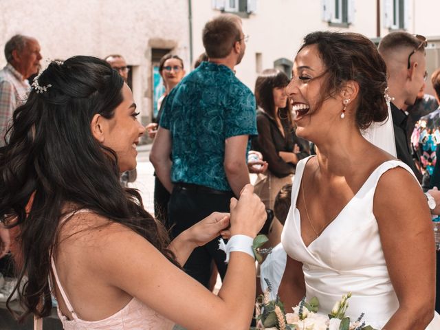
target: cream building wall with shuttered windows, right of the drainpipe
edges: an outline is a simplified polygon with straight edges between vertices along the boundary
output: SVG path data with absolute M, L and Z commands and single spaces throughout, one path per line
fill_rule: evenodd
M 376 39 L 377 35 L 377 0 L 355 0 L 353 23 L 349 27 L 334 26 L 322 20 L 322 2 L 320 0 L 259 0 L 257 11 L 243 18 L 243 31 L 250 34 L 246 54 L 236 67 L 236 76 L 243 83 L 254 89 L 258 76 L 256 53 L 261 53 L 261 68 L 274 66 L 278 58 L 293 61 L 303 36 L 317 30 L 350 31 L 364 34 Z M 435 24 L 436 15 L 440 12 L 438 0 L 409 0 L 410 18 L 408 32 L 423 34 L 428 37 L 440 36 L 440 25 Z M 194 54 L 203 52 L 201 30 L 210 18 L 220 14 L 212 9 L 208 0 L 192 0 Z M 391 30 L 384 28 L 384 0 L 380 0 L 380 36 Z M 437 38 L 439 39 L 439 38 Z M 436 46 L 437 47 L 437 46 Z M 440 53 L 439 53 L 440 54 Z M 428 69 L 434 69 L 437 61 L 435 55 L 428 56 Z M 440 61 L 440 58 L 439 58 Z

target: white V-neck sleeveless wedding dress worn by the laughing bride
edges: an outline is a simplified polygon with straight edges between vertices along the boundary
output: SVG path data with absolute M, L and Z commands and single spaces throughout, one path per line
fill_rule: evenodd
M 301 237 L 296 199 L 308 159 L 296 166 L 292 206 L 281 235 L 283 247 L 292 259 L 303 263 L 307 300 L 317 297 L 322 313 L 329 313 L 342 295 L 352 292 L 346 316 L 353 321 L 365 313 L 367 325 L 382 329 L 399 302 L 386 268 L 373 214 L 373 197 L 377 181 L 386 170 L 401 166 L 412 172 L 398 160 L 381 164 L 322 234 L 306 247 Z M 440 329 L 439 314 L 436 313 L 426 329 Z

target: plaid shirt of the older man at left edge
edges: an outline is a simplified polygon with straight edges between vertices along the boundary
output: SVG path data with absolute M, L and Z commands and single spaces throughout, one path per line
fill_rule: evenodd
M 28 80 L 23 79 L 10 63 L 0 70 L 0 146 L 4 144 L 3 136 L 12 113 L 26 101 L 29 92 Z

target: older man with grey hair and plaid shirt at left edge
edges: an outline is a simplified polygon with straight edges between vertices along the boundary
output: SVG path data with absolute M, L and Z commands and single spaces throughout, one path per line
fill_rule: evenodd
M 14 110 L 28 98 L 30 84 L 26 78 L 39 72 L 40 45 L 36 39 L 17 34 L 5 45 L 8 64 L 0 70 L 0 146 Z

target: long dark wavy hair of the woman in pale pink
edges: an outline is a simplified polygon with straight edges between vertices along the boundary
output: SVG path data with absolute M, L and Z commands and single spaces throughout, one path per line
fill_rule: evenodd
M 131 228 L 177 265 L 166 249 L 166 231 L 144 210 L 139 192 L 122 188 L 117 155 L 91 133 L 96 113 L 113 117 L 123 83 L 99 58 L 74 56 L 50 63 L 38 78 L 47 91 L 32 89 L 14 111 L 0 152 L 0 216 L 19 228 L 14 291 L 25 308 L 16 315 L 20 320 L 30 313 L 48 316 L 52 309 L 50 254 L 66 203 Z

